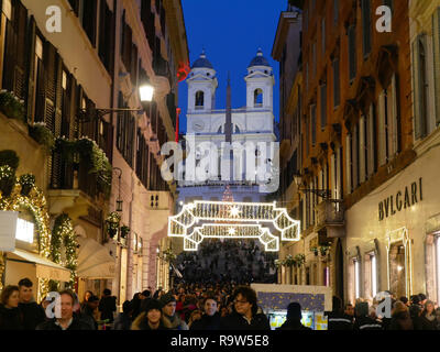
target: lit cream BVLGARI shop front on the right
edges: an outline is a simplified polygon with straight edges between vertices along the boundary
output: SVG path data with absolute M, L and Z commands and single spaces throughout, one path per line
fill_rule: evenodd
M 407 168 L 345 212 L 345 299 L 424 293 L 439 300 L 440 148 Z

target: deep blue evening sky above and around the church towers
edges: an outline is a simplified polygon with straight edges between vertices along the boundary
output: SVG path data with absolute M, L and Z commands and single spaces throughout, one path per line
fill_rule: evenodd
M 274 68 L 274 116 L 279 121 L 279 65 L 272 56 L 279 14 L 287 0 L 182 0 L 190 65 L 205 47 L 217 72 L 216 109 L 226 108 L 228 70 L 231 73 L 232 108 L 246 105 L 244 76 L 258 47 Z M 180 133 L 186 131 L 186 81 L 179 84 Z

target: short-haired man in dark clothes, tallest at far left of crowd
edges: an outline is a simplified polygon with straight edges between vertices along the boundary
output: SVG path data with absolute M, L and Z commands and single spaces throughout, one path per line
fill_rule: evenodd
M 19 282 L 19 309 L 23 317 L 24 330 L 35 330 L 36 326 L 43 322 L 46 318 L 43 308 L 34 300 L 32 286 L 33 284 L 29 278 L 22 278 Z

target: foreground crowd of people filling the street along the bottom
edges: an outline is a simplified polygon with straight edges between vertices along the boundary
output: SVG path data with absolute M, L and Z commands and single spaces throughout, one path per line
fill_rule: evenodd
M 40 305 L 35 302 L 32 287 L 32 282 L 23 278 L 18 286 L 3 288 L 0 330 L 97 330 L 102 323 L 113 330 L 271 329 L 268 317 L 249 285 L 179 284 L 168 293 L 147 289 L 124 301 L 120 314 L 109 289 L 101 298 L 87 292 L 82 302 L 72 290 L 63 290 L 57 315 L 55 305 L 50 307 L 50 297 Z M 387 299 L 389 316 L 384 306 Z M 290 302 L 286 309 L 286 321 L 279 330 L 309 329 L 301 323 L 298 302 Z M 332 310 L 326 315 L 328 330 L 440 330 L 440 308 L 422 294 L 396 299 L 389 293 L 372 305 L 358 299 L 354 305 L 344 306 L 333 297 Z

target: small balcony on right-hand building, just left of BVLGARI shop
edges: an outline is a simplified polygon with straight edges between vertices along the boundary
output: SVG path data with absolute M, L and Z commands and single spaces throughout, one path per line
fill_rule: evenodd
M 324 199 L 316 207 L 316 231 L 327 231 L 328 238 L 344 237 L 343 200 Z

